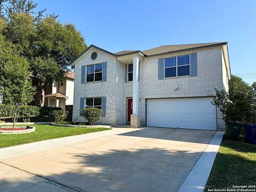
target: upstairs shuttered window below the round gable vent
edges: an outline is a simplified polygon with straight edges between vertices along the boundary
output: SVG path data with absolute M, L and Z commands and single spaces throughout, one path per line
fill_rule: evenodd
M 102 81 L 102 63 L 87 66 L 86 82 Z

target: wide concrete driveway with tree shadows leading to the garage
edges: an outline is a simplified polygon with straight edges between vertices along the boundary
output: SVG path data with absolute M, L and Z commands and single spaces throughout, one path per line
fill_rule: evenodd
M 93 134 L 101 137 L 86 140 Z M 67 145 L 62 139 L 59 147 L 0 160 L 1 191 L 177 191 L 214 134 L 114 128 Z

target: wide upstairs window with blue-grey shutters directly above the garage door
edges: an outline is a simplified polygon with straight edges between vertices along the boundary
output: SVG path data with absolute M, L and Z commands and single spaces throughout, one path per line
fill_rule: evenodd
M 165 77 L 190 75 L 189 55 L 165 59 Z

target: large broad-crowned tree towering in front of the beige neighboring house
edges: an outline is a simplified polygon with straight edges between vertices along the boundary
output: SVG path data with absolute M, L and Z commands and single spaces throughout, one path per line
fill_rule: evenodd
M 21 6 L 17 5 L 17 2 L 24 4 L 28 1 L 15 0 L 15 2 L 15 6 Z M 14 6 L 12 3 L 10 5 Z M 41 91 L 41 106 L 43 106 L 45 86 L 60 81 L 69 69 L 69 63 L 87 46 L 74 25 L 70 23 L 63 25 L 55 17 L 37 19 L 31 14 L 31 10 L 26 11 L 21 8 L 17 11 L 14 7 L 12 14 L 7 14 L 5 19 L 7 27 L 3 34 L 8 41 L 18 47 L 20 55 L 28 60 L 29 70 L 33 73 L 33 78 L 38 82 Z

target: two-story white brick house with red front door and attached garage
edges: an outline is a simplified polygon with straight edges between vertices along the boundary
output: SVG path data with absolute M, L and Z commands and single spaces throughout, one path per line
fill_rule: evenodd
M 228 91 L 227 43 L 165 45 L 111 53 L 89 46 L 75 66 L 73 121 L 79 111 L 101 108 L 102 124 L 223 130 L 211 104 Z

